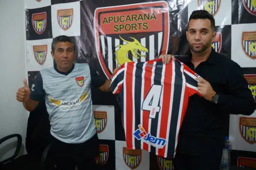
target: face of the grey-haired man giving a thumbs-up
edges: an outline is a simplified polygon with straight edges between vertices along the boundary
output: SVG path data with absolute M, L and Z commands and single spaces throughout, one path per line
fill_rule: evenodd
M 57 69 L 63 72 L 71 69 L 75 58 L 74 47 L 71 42 L 57 42 L 55 51 L 51 54 L 52 58 L 55 59 Z

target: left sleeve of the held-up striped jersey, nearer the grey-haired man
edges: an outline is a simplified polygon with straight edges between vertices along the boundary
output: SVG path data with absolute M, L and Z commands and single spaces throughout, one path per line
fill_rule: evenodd
M 123 78 L 125 75 L 125 68 L 120 67 L 113 75 L 112 75 L 112 81 L 110 84 L 110 91 L 115 94 L 119 94 L 122 90 L 123 86 Z

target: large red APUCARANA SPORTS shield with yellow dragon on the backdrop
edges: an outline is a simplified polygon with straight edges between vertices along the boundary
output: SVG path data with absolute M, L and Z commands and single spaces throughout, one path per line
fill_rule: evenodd
M 97 56 L 108 78 L 125 62 L 148 61 L 167 53 L 168 11 L 164 1 L 96 9 Z

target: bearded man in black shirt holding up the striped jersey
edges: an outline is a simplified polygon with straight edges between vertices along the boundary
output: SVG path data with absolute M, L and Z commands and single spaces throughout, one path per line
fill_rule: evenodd
M 252 114 L 254 99 L 241 67 L 212 49 L 216 32 L 214 18 L 209 12 L 193 11 L 186 35 L 191 55 L 180 61 L 201 76 L 198 89 L 203 97 L 189 97 L 174 168 L 217 170 L 229 114 Z M 162 55 L 159 58 L 168 63 L 171 57 Z

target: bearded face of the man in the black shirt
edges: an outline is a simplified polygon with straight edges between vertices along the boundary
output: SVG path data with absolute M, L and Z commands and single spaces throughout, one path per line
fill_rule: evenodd
M 210 27 L 209 19 L 192 19 L 189 22 L 186 35 L 192 52 L 201 53 L 210 48 L 216 32 L 213 32 Z

